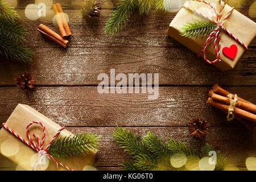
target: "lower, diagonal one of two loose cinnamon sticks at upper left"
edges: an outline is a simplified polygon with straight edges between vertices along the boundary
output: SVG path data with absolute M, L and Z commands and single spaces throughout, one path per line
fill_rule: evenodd
M 38 31 L 41 32 L 43 35 L 47 36 L 48 38 L 52 39 L 57 44 L 60 44 L 60 46 L 62 47 L 66 48 L 68 46 L 68 40 L 63 39 L 59 34 L 51 30 L 44 24 L 39 25 Z

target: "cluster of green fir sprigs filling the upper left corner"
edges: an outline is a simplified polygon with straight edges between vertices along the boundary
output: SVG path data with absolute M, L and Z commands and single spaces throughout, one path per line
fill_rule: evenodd
M 27 30 L 16 19 L 19 14 L 6 2 L 0 0 L 0 55 L 7 59 L 26 63 L 32 60 L 32 52 L 24 46 Z

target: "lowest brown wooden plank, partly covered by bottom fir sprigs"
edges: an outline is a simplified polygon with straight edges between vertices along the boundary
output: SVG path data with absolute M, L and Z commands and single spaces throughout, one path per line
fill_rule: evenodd
M 167 140 L 168 137 L 180 140 L 193 148 L 200 148 L 205 142 L 212 144 L 222 151 L 230 164 L 238 167 L 245 167 L 245 159 L 253 156 L 256 146 L 254 133 L 247 133 L 243 129 L 229 127 L 212 127 L 211 133 L 204 140 L 197 140 L 189 136 L 187 127 L 128 127 L 139 136 L 143 136 L 147 131 Z M 129 159 L 123 150 L 117 146 L 112 139 L 113 127 L 75 127 L 68 128 L 72 133 L 93 132 L 102 136 L 102 147 L 96 156 L 96 166 L 118 166 L 122 160 Z

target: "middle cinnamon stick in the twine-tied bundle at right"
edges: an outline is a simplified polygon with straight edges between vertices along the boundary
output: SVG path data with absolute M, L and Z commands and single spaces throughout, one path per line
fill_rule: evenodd
M 216 93 L 212 93 L 211 97 L 215 101 L 222 102 L 222 103 L 224 103 L 226 105 L 230 104 L 230 101 L 229 101 L 228 97 L 224 97 L 224 96 L 221 96 L 221 95 L 216 94 Z M 237 101 L 236 107 L 238 107 L 238 108 L 240 108 L 242 110 L 246 110 L 246 111 L 248 111 L 250 113 L 256 114 L 256 105 L 254 105 L 254 104 L 249 104 L 247 102 Z

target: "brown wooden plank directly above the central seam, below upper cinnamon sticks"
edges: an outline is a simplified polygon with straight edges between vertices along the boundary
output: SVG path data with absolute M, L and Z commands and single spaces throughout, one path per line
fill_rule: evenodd
M 236 68 L 220 72 L 187 48 L 33 48 L 30 64 L 0 61 L 0 85 L 15 85 L 14 78 L 31 72 L 38 85 L 98 85 L 100 73 L 159 73 L 160 85 L 255 85 L 256 49 L 243 55 Z

